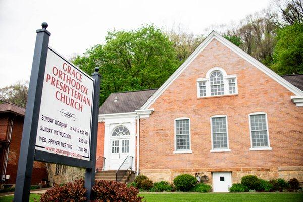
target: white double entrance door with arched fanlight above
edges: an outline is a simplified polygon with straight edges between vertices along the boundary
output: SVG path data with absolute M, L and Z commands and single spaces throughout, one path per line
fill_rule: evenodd
M 110 170 L 117 170 L 129 155 L 130 132 L 125 126 L 116 127 L 111 135 Z

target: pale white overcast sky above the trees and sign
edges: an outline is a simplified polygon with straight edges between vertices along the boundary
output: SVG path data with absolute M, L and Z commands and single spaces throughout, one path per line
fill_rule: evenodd
M 0 0 L 0 88 L 28 81 L 36 29 L 48 23 L 49 46 L 70 58 L 104 42 L 108 31 L 144 24 L 206 34 L 213 25 L 238 22 L 270 0 Z

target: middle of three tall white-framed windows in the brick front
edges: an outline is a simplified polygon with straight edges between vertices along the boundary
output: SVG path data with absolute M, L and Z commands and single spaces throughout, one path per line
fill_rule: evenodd
M 216 115 L 211 117 L 212 150 L 230 151 L 228 146 L 227 116 Z

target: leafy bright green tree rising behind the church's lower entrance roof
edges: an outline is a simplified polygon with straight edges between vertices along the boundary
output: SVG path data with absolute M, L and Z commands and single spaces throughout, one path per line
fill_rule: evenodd
M 112 92 L 158 88 L 180 65 L 173 43 L 153 25 L 108 32 L 105 44 L 92 47 L 74 63 L 88 74 L 100 67 L 100 103 Z

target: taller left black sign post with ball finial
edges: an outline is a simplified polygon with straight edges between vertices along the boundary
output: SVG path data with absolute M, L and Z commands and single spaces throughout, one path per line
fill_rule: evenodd
M 37 37 L 18 161 L 16 188 L 14 194 L 15 202 L 24 202 L 29 200 L 47 48 L 49 36 L 51 36 L 51 33 L 46 30 L 47 26 L 47 23 L 44 22 L 42 23 L 42 29 L 38 29 L 36 31 Z

